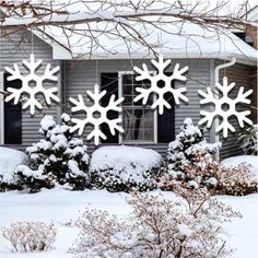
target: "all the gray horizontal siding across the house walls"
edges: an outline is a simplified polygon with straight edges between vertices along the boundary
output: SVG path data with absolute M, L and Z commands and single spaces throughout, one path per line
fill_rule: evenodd
M 3 70 L 5 66 L 13 67 L 16 62 L 22 67 L 22 60 L 28 59 L 30 54 L 35 54 L 36 59 L 43 59 L 43 66 L 38 70 L 42 73 L 46 67 L 46 63 L 50 62 L 52 67 L 60 64 L 60 61 L 52 60 L 52 50 L 49 45 L 44 43 L 36 36 L 33 37 L 33 49 L 32 49 L 32 36 L 27 32 L 24 39 L 21 40 L 21 36 L 12 34 L 11 38 L 0 37 L 0 69 Z M 150 64 L 150 59 L 141 60 L 78 60 L 78 61 L 63 61 L 62 62 L 62 78 L 60 78 L 58 86 L 61 84 L 62 93 L 62 104 L 63 110 L 70 113 L 69 97 L 78 97 L 78 94 L 86 96 L 86 90 L 93 90 L 95 83 L 99 84 L 102 72 L 118 72 L 118 71 L 132 71 L 133 66 L 141 67 L 145 62 L 150 70 L 154 70 Z M 167 70 L 168 72 L 173 70 L 175 63 L 179 62 L 180 67 L 188 66 L 187 74 L 187 93 L 186 96 L 189 98 L 188 103 L 181 103 L 175 108 L 175 132 L 179 131 L 179 128 L 186 117 L 191 117 L 194 122 L 197 124 L 200 119 L 200 96 L 198 95 L 198 90 L 206 91 L 207 86 L 213 85 L 213 73 L 214 73 L 214 60 L 208 59 L 175 59 L 172 60 L 172 66 Z M 215 62 L 219 64 L 219 62 Z M 250 68 L 247 66 L 235 64 L 234 67 L 226 69 L 222 73 L 226 74 L 231 81 L 236 82 L 236 89 L 232 92 L 232 96 L 235 96 L 237 89 L 244 86 L 246 90 L 251 85 L 251 77 L 249 77 Z M 221 79 L 222 74 L 221 73 Z M 176 87 L 180 86 L 176 83 Z M 203 108 L 203 107 L 202 107 Z M 209 107 L 207 107 L 209 108 Z M 31 145 L 33 142 L 37 141 L 40 136 L 38 133 L 39 121 L 45 114 L 54 115 L 59 118 L 60 106 L 52 105 L 51 107 L 44 107 L 43 112 L 38 112 L 34 117 L 31 117 L 28 110 L 24 110 L 22 115 L 22 145 L 13 145 L 13 148 L 24 150 L 25 146 Z M 227 139 L 223 139 L 220 136 L 220 140 L 223 142 L 223 148 L 221 151 L 221 157 L 224 159 L 231 155 L 237 155 L 241 153 L 237 134 L 241 129 L 238 128 L 236 121 L 234 126 L 237 128 L 237 132 L 230 133 Z M 208 141 L 214 140 L 214 133 L 212 128 L 208 130 L 207 138 Z M 83 134 L 84 139 L 89 133 L 89 128 Z M 90 152 L 95 149 L 92 142 L 87 143 Z M 152 148 L 159 151 L 161 154 L 165 155 L 167 144 L 141 144 L 144 148 Z

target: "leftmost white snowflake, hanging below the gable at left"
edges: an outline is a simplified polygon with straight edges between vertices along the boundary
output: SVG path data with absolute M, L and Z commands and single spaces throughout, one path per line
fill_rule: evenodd
M 28 95 L 28 98 L 23 98 L 25 102 L 23 104 L 23 108 L 27 108 L 30 106 L 30 112 L 32 115 L 35 113 L 35 107 L 38 109 L 42 109 L 43 106 L 39 103 L 39 101 L 36 98 L 36 95 L 42 93 L 44 95 L 44 98 L 48 105 L 51 104 L 51 99 L 59 102 L 59 97 L 56 96 L 54 93 L 58 91 L 57 87 L 44 87 L 44 81 L 58 81 L 58 77 L 54 75 L 57 71 L 59 71 L 59 67 L 56 67 L 51 69 L 50 63 L 46 66 L 45 72 L 42 75 L 36 74 L 36 70 L 40 67 L 43 60 L 35 61 L 34 54 L 31 54 L 30 62 L 26 60 L 23 60 L 23 66 L 30 71 L 28 74 L 22 74 L 17 64 L 14 63 L 14 70 L 5 67 L 5 70 L 11 74 L 8 77 L 8 81 L 13 80 L 21 80 L 22 81 L 22 87 L 21 89 L 14 89 L 14 87 L 8 87 L 8 92 L 10 95 L 5 98 L 5 102 L 9 102 L 14 98 L 14 104 L 16 105 L 20 101 L 23 94 Z M 35 85 L 32 85 L 32 83 L 35 83 Z

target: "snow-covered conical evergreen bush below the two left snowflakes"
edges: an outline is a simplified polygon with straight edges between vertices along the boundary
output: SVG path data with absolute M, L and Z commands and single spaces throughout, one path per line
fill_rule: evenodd
M 52 116 L 40 121 L 39 132 L 45 137 L 26 149 L 30 166 L 19 166 L 14 178 L 17 186 L 31 192 L 56 184 L 71 190 L 82 190 L 89 184 L 89 155 L 83 140 L 70 132 L 70 117 L 61 116 L 57 125 Z

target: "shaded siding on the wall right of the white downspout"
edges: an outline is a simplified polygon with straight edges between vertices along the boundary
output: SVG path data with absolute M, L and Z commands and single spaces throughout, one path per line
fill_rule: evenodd
M 249 89 L 253 89 L 254 77 L 250 77 L 250 68 L 247 66 L 234 64 L 233 67 L 222 70 L 220 72 L 221 82 L 224 75 L 228 78 L 228 83 L 231 82 L 236 83 L 235 87 L 230 93 L 231 98 L 235 98 L 237 96 L 237 93 L 241 86 L 244 86 L 245 92 L 248 91 Z M 249 98 L 251 99 L 251 103 L 254 105 L 254 94 L 251 94 Z M 237 110 L 250 109 L 248 105 L 247 106 L 237 105 L 236 107 L 237 107 Z M 253 113 L 253 116 L 249 116 L 249 118 L 254 120 L 254 113 Z M 223 138 L 222 132 L 220 132 L 220 141 L 222 142 L 222 150 L 220 154 L 221 154 L 222 160 L 228 156 L 242 154 L 242 150 L 239 148 L 239 142 L 238 142 L 238 134 L 242 131 L 242 129 L 238 126 L 236 118 L 232 117 L 230 118 L 230 121 L 233 125 L 233 127 L 236 129 L 236 132 L 228 131 L 227 138 Z M 245 124 L 245 127 L 248 127 L 248 125 Z

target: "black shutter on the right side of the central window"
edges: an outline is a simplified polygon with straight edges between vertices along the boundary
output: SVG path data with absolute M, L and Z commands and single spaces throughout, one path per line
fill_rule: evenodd
M 171 75 L 172 73 L 165 73 Z M 163 83 L 163 82 L 159 82 Z M 174 86 L 174 82 L 173 85 Z M 161 85 L 162 87 L 162 85 Z M 165 99 L 171 104 L 172 108 L 164 108 L 163 115 L 157 114 L 157 142 L 168 143 L 175 140 L 175 102 L 171 93 L 165 94 Z

